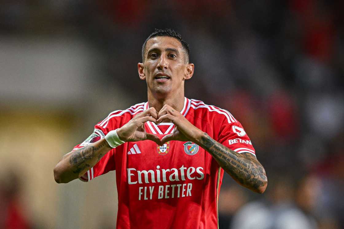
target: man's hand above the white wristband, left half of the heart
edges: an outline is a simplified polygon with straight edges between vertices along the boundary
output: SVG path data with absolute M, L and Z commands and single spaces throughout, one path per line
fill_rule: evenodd
M 153 134 L 148 134 L 144 129 L 144 123 L 151 121 L 157 123 L 158 112 L 154 107 L 147 109 L 135 117 L 127 124 L 117 129 L 117 135 L 122 141 L 151 140 L 160 145 L 160 138 Z

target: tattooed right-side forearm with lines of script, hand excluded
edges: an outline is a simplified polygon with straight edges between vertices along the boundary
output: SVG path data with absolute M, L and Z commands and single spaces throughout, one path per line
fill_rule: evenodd
M 252 154 L 234 152 L 207 134 L 202 136 L 201 144 L 220 162 L 221 167 L 240 184 L 255 189 L 266 185 L 265 170 Z

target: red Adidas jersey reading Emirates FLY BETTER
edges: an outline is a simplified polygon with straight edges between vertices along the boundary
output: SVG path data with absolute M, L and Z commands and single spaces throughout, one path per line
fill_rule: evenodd
M 145 102 L 110 113 L 74 149 L 104 138 L 147 108 Z M 226 147 L 255 155 L 243 127 L 228 111 L 185 98 L 181 113 Z M 147 133 L 160 138 L 175 127 L 152 122 L 144 126 Z M 125 142 L 111 149 L 80 180 L 90 181 L 111 170 L 116 170 L 117 228 L 217 228 L 217 200 L 224 170 L 195 143 L 169 141 L 158 146 L 149 140 Z

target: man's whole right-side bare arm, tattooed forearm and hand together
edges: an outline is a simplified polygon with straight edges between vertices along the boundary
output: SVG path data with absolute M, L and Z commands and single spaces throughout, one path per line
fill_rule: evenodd
M 180 112 L 176 112 L 169 105 L 163 106 L 159 116 L 158 123 L 169 119 L 176 126 L 172 134 L 165 135 L 161 139 L 161 145 L 170 140 L 193 141 L 212 154 L 226 173 L 240 185 L 257 193 L 265 191 L 268 180 L 264 168 L 255 156 L 228 149 L 192 125 Z

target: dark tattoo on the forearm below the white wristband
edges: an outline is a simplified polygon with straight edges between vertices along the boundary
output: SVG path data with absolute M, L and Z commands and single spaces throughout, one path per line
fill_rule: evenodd
M 85 146 L 75 150 L 69 158 L 69 163 L 74 166 L 73 173 L 78 174 L 86 168 L 93 167 L 106 154 L 106 152 L 100 153 L 95 163 L 92 163 L 94 161 L 92 159 L 97 155 L 97 152 L 105 145 L 106 142 L 97 147 Z

